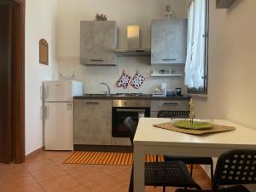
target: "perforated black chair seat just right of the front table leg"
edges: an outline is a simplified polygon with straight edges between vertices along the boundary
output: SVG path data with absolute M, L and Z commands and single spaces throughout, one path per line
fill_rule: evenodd
M 145 163 L 145 185 L 201 189 L 182 161 Z

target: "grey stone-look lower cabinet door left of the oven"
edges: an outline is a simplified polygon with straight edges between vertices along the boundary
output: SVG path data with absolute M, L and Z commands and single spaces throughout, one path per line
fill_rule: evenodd
M 112 101 L 74 101 L 74 144 L 111 145 Z

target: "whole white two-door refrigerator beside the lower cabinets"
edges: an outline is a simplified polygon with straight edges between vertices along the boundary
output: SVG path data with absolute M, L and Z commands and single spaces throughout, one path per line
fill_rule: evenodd
M 73 96 L 83 95 L 83 83 L 45 81 L 44 149 L 73 150 Z

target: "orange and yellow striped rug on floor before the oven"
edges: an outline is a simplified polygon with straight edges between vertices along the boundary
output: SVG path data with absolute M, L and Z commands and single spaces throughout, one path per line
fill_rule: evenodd
M 145 157 L 146 162 L 155 162 L 157 156 L 148 154 Z M 163 161 L 163 156 L 158 156 L 159 161 Z M 133 163 L 132 153 L 113 153 L 113 152 L 95 152 L 95 151 L 76 151 L 71 154 L 63 164 L 85 164 L 85 165 L 113 165 L 113 166 L 131 166 Z

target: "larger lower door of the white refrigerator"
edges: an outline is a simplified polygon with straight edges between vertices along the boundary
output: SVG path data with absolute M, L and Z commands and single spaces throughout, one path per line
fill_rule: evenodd
M 73 150 L 73 102 L 44 103 L 45 150 Z

